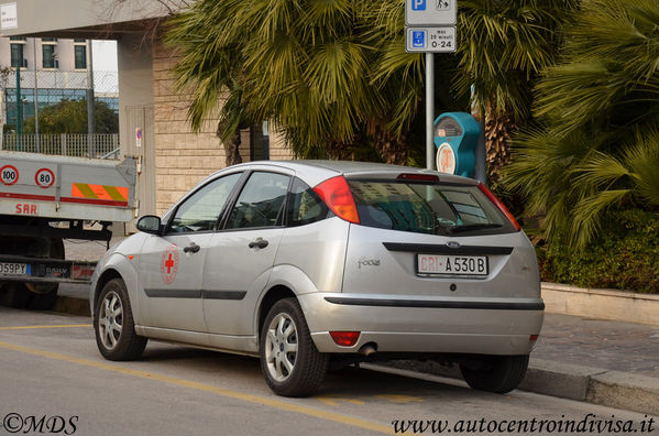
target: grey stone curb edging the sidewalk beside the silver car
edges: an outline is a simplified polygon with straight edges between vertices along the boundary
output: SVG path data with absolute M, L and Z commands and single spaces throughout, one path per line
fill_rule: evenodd
M 69 296 L 59 296 L 53 310 L 90 316 L 89 301 Z M 457 364 L 398 360 L 381 366 L 462 379 Z M 531 357 L 526 378 L 519 389 L 659 416 L 659 379 L 628 372 L 559 363 Z

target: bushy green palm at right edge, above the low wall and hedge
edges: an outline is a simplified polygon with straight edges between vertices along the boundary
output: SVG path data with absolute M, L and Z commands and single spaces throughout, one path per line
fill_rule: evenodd
M 659 209 L 659 3 L 583 0 L 563 61 L 537 87 L 541 128 L 517 141 L 506 182 L 583 248 L 609 209 Z

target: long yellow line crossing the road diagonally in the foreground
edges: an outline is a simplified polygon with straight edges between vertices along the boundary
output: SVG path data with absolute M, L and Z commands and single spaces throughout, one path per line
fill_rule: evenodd
M 287 412 L 294 412 L 294 413 L 299 413 L 299 414 L 307 415 L 307 416 L 314 416 L 314 417 L 317 417 L 320 419 L 333 421 L 336 423 L 347 424 L 347 425 L 351 425 L 353 427 L 364 428 L 364 429 L 369 429 L 372 432 L 378 432 L 378 433 L 385 433 L 385 434 L 394 433 L 394 429 L 386 425 L 375 424 L 375 423 L 372 423 L 372 422 L 369 422 L 365 419 L 360 419 L 360 418 L 355 418 L 355 417 L 348 416 L 348 415 L 341 415 L 338 413 L 320 411 L 317 408 L 307 407 L 307 406 L 299 405 L 299 404 L 286 403 L 284 401 L 272 399 L 272 397 L 259 396 L 259 395 L 253 395 L 253 394 L 238 392 L 238 391 L 231 391 L 228 389 L 212 386 L 210 384 L 204 384 L 204 383 L 198 383 L 198 382 L 194 382 L 194 381 L 189 381 L 189 380 L 177 379 L 177 378 L 169 377 L 169 375 L 157 374 L 157 373 L 153 373 L 153 372 L 146 372 L 146 371 L 140 371 L 140 370 L 135 370 L 135 369 L 119 367 L 116 364 L 110 364 L 110 363 L 106 363 L 106 362 L 101 362 L 101 361 L 81 359 L 81 358 L 77 358 L 74 356 L 59 355 L 59 353 L 52 352 L 52 351 L 39 350 L 36 348 L 31 348 L 31 347 L 25 347 L 25 346 L 9 344 L 9 342 L 0 341 L 0 348 L 4 348 L 8 350 L 14 350 L 14 351 L 21 351 L 21 352 L 25 352 L 28 355 L 45 357 L 48 359 L 55 359 L 55 360 L 61 360 L 61 361 L 65 361 L 65 362 L 77 363 L 77 364 L 81 364 L 85 367 L 97 368 L 97 369 L 101 369 L 101 370 L 106 370 L 106 371 L 118 372 L 121 374 L 139 377 L 141 379 L 156 380 L 156 381 L 161 381 L 161 382 L 164 382 L 167 384 L 173 384 L 176 386 L 195 389 L 197 391 L 210 392 L 210 393 L 213 393 L 213 394 L 217 394 L 220 396 L 226 396 L 229 399 L 242 400 L 242 401 L 253 403 L 253 404 L 261 404 L 261 405 L 279 408 L 283 411 L 287 411 Z

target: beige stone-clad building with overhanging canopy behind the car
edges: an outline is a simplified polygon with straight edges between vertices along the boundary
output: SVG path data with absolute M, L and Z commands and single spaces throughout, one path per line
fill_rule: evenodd
M 161 215 L 201 178 L 224 166 L 224 149 L 216 134 L 218 120 L 209 118 L 198 133 L 193 132 L 187 121 L 190 97 L 174 86 L 176 57 L 162 44 L 161 30 L 179 7 L 176 0 L 1 1 L 0 11 L 9 17 L 2 20 L 3 36 L 117 41 L 121 154 L 142 162 L 141 215 Z M 270 130 L 270 135 L 260 127 L 243 131 L 243 162 L 292 159 L 283 139 Z

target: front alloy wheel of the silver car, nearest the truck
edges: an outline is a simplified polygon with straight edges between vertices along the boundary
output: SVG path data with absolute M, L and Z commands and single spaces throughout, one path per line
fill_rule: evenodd
M 125 284 L 112 279 L 101 290 L 94 310 L 96 345 L 108 360 L 134 360 L 142 356 L 146 338 L 135 333 Z

